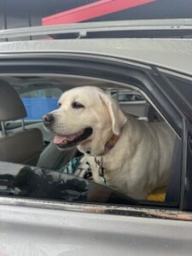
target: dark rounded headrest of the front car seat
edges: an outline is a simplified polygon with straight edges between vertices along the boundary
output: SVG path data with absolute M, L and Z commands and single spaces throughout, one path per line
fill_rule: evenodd
M 0 79 L 0 121 L 24 119 L 26 108 L 17 91 Z

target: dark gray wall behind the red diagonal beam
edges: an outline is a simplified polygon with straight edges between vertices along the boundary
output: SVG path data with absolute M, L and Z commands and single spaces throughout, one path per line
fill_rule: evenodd
M 98 1 L 98 0 L 97 0 Z M 0 0 L 0 29 L 39 26 L 41 19 L 96 0 Z M 133 20 L 192 17 L 192 0 L 158 0 L 94 20 Z

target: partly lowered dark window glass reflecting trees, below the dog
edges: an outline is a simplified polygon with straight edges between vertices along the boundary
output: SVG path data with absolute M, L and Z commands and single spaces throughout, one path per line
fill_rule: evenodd
M 128 196 L 81 177 L 35 166 L 1 162 L 0 195 L 61 201 L 132 204 Z

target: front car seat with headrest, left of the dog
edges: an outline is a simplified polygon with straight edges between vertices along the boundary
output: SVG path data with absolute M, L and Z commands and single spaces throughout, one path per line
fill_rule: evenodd
M 26 130 L 26 108 L 16 90 L 0 80 L 0 160 L 36 166 L 43 149 L 42 132 L 37 128 Z M 6 131 L 5 122 L 22 119 L 22 131 Z

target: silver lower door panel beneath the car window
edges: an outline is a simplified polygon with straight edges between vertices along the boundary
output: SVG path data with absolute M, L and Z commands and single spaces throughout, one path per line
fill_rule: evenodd
M 1 255 L 191 255 L 192 223 L 0 205 Z

